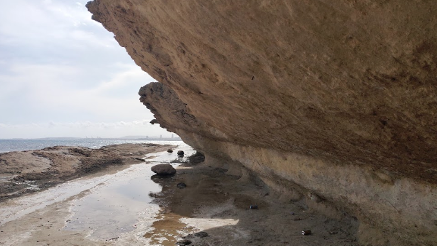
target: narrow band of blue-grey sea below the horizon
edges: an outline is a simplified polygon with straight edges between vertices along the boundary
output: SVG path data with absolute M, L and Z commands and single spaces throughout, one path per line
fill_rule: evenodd
M 182 141 L 174 140 L 124 140 L 104 138 L 71 138 L 71 139 L 0 139 L 0 153 L 36 150 L 53 146 L 81 146 L 87 148 L 101 148 L 107 145 L 122 143 L 154 143 L 181 145 Z

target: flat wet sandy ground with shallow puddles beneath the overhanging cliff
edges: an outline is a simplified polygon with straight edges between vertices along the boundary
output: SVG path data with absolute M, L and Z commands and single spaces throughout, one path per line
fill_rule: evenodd
M 37 201 L 39 193 L 35 193 L 0 203 L 0 214 L 5 214 L 14 205 L 25 207 L 29 202 L 53 199 L 40 209 L 2 222 L 0 244 L 175 245 L 185 239 L 196 246 L 358 245 L 355 224 L 327 218 L 303 202 L 283 199 L 244 168 L 207 159 L 178 166 L 173 177 L 152 176 L 153 164 L 174 155 L 149 154 L 147 163 L 104 169 L 59 184 L 40 193 L 50 191 L 39 197 L 45 201 Z M 138 180 L 141 183 L 129 186 L 136 192 L 132 195 L 135 199 L 108 191 Z M 74 183 L 82 191 L 67 194 L 60 201 L 47 198 L 59 196 L 57 187 L 63 192 Z M 179 183 L 186 187 L 178 188 Z M 251 205 L 258 208 L 249 209 Z M 97 209 L 92 210 L 92 206 Z M 302 230 L 311 230 L 311 235 L 302 235 Z

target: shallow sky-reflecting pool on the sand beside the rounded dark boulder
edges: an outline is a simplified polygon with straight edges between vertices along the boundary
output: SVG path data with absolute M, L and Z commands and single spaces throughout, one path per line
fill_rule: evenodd
M 177 150 L 183 150 L 185 156 L 194 153 L 188 145 L 180 145 Z M 135 230 L 140 217 L 142 221 L 149 218 L 151 224 L 159 206 L 150 204 L 149 193 L 161 191 L 161 186 L 151 179 L 154 173 L 150 168 L 154 164 L 170 163 L 176 153 L 152 153 L 146 158 L 150 164 L 134 165 L 119 172 L 116 178 L 108 179 L 74 201 L 70 208 L 72 216 L 64 229 L 88 230 L 91 239 L 113 239 Z

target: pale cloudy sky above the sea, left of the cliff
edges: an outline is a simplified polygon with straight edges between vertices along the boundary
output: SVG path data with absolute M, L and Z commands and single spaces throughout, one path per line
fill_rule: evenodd
M 0 139 L 171 136 L 139 102 L 155 79 L 87 1 L 0 1 Z

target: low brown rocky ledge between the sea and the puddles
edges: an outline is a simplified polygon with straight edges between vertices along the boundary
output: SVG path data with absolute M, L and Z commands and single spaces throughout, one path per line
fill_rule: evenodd
M 54 146 L 0 153 L 0 204 L 93 173 L 121 170 L 130 164 L 144 162 L 141 158 L 145 154 L 175 147 L 124 143 L 99 149 Z

